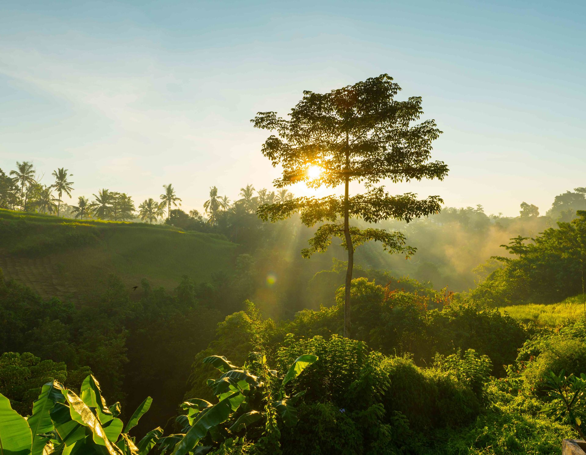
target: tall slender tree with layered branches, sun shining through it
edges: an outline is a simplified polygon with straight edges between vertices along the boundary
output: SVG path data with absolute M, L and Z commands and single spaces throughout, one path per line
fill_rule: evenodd
M 273 166 L 280 164 L 282 177 L 274 181 L 277 188 L 305 182 L 309 188 L 322 185 L 334 188 L 343 185 L 342 196 L 323 198 L 300 197 L 290 201 L 261 206 L 257 213 L 263 220 L 277 221 L 294 212 L 301 213 L 307 226 L 328 221 L 309 240 L 304 257 L 325 251 L 332 237 L 340 237 L 348 252 L 344 299 L 344 335 L 350 335 L 350 285 L 354 250 L 368 240 L 383 244 L 390 253 L 407 257 L 415 249 L 406 246 L 400 232 L 383 229 L 359 229 L 350 225 L 350 218 L 366 222 L 394 218 L 411 219 L 440 211 L 442 199 L 430 196 L 418 200 L 413 193 L 393 196 L 382 180 L 408 182 L 423 178 L 442 180 L 448 167 L 442 161 L 429 162 L 431 143 L 441 131 L 434 120 L 416 125 L 423 114 L 421 98 L 411 96 L 397 101 L 400 87 L 387 74 L 369 78 L 329 93 L 305 91 L 291 110 L 290 119 L 275 112 L 259 112 L 251 120 L 254 126 L 276 131 L 265 141 L 262 152 Z M 319 172 L 315 170 L 319 169 Z M 350 197 L 350 182 L 362 182 L 366 192 Z

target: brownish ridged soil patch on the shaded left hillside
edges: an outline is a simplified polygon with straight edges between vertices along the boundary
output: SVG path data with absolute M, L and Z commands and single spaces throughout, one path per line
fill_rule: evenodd
M 45 299 L 76 301 L 79 296 L 77 289 L 59 276 L 59 267 L 50 257 L 15 257 L 0 250 L 0 268 L 6 280 L 21 282 Z

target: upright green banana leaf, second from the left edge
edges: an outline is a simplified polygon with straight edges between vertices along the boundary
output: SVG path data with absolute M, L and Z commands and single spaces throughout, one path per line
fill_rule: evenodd
M 32 455 L 43 455 L 45 444 L 50 439 L 50 436 L 44 435 L 54 429 L 49 411 L 55 403 L 65 401 L 62 389 L 63 386 L 57 381 L 47 382 L 43 385 L 39 398 L 33 402 L 33 414 L 27 420 L 33 435 Z

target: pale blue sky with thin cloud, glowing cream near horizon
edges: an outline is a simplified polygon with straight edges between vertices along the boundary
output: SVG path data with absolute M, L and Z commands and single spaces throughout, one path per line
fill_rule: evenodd
M 73 199 L 173 184 L 237 199 L 279 175 L 258 111 L 387 73 L 444 132 L 444 181 L 389 184 L 516 216 L 586 186 L 586 2 L 11 1 L 0 4 L 0 168 L 65 167 Z M 302 187 L 295 194 L 311 194 Z M 355 188 L 358 191 L 359 188 Z M 323 190 L 320 194 L 338 192 Z

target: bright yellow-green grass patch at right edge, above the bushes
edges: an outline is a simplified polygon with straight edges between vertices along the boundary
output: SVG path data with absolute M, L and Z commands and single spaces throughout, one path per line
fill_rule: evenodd
M 574 321 L 584 316 L 584 299 L 586 299 L 586 294 L 580 294 L 568 297 L 557 304 L 505 306 L 500 308 L 500 312 L 506 311 L 513 318 L 525 323 L 535 322 L 540 326 L 556 327 L 568 320 Z

